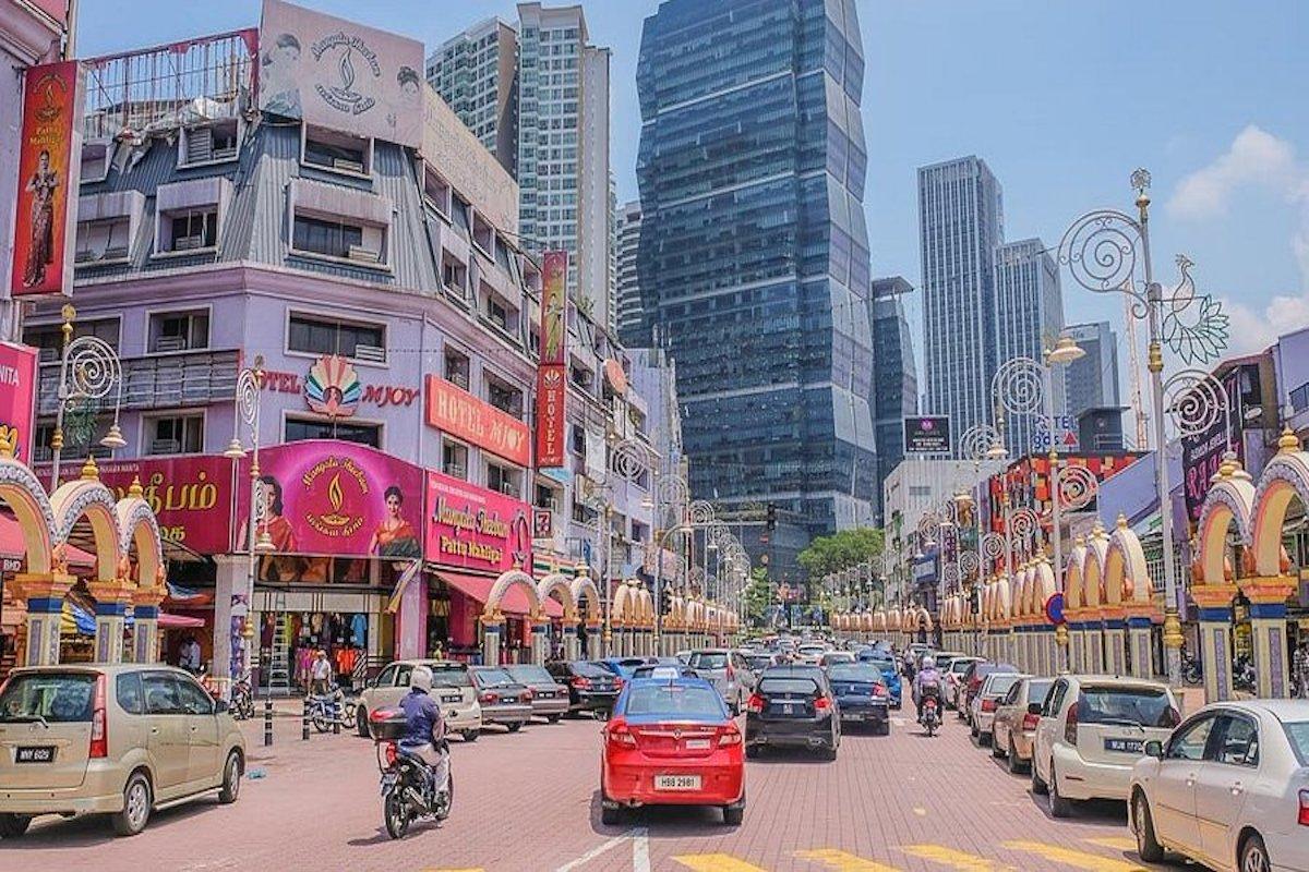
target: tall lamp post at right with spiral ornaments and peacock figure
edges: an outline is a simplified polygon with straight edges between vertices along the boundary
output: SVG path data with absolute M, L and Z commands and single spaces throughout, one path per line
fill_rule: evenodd
M 1136 217 L 1117 209 L 1097 209 L 1073 221 L 1059 241 L 1059 263 L 1092 293 L 1123 294 L 1130 316 L 1145 320 L 1149 328 L 1147 369 L 1155 409 L 1155 486 L 1164 550 L 1164 648 L 1168 680 L 1175 688 L 1182 680 L 1182 625 L 1178 621 L 1164 431 L 1164 345 L 1186 363 L 1212 360 L 1227 348 L 1228 316 L 1220 303 L 1195 293 L 1189 272 L 1192 264 L 1183 255 L 1177 258 L 1181 281 L 1175 288 L 1165 294 L 1164 286 L 1155 281 L 1149 252 L 1149 184 L 1148 171 L 1132 173 Z

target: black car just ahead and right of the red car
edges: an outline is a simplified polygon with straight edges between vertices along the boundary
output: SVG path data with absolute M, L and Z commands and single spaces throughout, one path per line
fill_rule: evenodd
M 745 754 L 763 748 L 817 748 L 836 760 L 840 715 L 836 694 L 817 667 L 768 667 L 745 713 Z

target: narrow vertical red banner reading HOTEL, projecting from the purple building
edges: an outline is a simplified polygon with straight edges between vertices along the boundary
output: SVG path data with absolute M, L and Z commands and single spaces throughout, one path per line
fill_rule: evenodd
M 542 258 L 541 366 L 537 369 L 537 468 L 564 465 L 564 397 L 568 394 L 568 252 Z

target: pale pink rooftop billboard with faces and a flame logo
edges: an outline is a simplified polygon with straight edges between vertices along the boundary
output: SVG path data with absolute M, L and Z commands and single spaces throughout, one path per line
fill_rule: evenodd
M 264 0 L 260 110 L 419 148 L 423 90 L 423 43 L 281 0 Z

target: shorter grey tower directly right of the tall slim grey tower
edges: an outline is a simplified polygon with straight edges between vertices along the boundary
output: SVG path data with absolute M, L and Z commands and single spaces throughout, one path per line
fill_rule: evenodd
M 1041 239 L 1009 242 L 995 251 L 995 318 L 996 365 L 1016 357 L 1041 361 L 1045 349 L 1052 348 L 1063 332 L 1063 292 L 1059 289 L 1059 267 Z M 1052 409 L 1066 414 L 1063 371 L 1055 370 L 1050 382 Z M 1049 451 L 1049 442 L 1033 439 L 1046 426 L 1037 416 L 1005 413 L 1004 441 L 1011 456 Z M 1071 426 L 1073 431 L 1076 428 Z M 1066 430 L 1060 428 L 1060 433 Z

